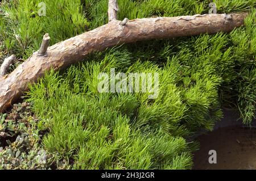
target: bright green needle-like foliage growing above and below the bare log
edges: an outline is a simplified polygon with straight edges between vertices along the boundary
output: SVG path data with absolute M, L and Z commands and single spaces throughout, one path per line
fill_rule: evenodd
M 4 1 L 0 58 L 26 59 L 44 33 L 51 44 L 108 22 L 106 0 Z M 210 1 L 119 0 L 118 18 L 208 13 Z M 27 100 L 47 129 L 40 146 L 68 167 L 57 169 L 191 169 L 197 143 L 187 138 L 212 130 L 222 107 L 255 118 L 255 1 L 214 1 L 217 13 L 250 10 L 245 26 L 230 33 L 143 41 L 90 54 L 64 71 L 48 71 L 30 85 Z M 23 61 L 23 60 L 21 60 Z M 14 65 L 15 66 L 15 65 Z M 14 67 L 13 67 L 14 68 Z M 159 95 L 99 93 L 98 74 L 158 73 Z

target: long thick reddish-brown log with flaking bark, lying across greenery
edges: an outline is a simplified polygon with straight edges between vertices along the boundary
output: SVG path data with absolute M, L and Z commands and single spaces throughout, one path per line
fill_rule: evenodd
M 0 77 L 0 111 L 3 112 L 46 70 L 64 69 L 83 60 L 96 50 L 114 45 L 150 39 L 167 39 L 200 33 L 230 32 L 243 24 L 247 13 L 207 14 L 172 18 L 144 18 L 129 20 L 124 26 L 113 20 L 92 31 L 57 43 L 47 49 L 46 56 L 32 54 L 12 73 Z

